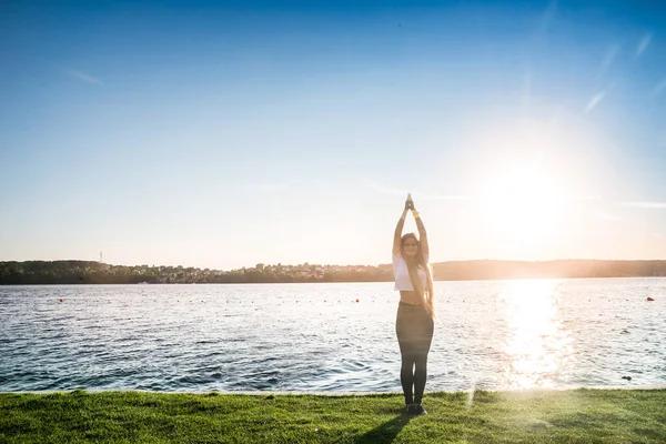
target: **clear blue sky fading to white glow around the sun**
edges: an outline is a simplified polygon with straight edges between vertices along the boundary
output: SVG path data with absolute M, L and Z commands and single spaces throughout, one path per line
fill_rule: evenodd
M 0 261 L 666 259 L 666 3 L 3 1 Z M 415 230 L 410 220 L 406 230 Z

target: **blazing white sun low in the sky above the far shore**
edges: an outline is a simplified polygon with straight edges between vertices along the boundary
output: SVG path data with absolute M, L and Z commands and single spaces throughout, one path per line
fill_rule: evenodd
M 543 167 L 496 168 L 480 184 L 477 203 L 486 234 L 516 259 L 538 259 L 568 230 L 567 182 Z

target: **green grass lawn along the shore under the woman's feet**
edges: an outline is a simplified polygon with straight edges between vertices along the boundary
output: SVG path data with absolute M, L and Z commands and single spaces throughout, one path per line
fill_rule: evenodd
M 666 390 L 398 394 L 0 394 L 0 443 L 664 443 Z

